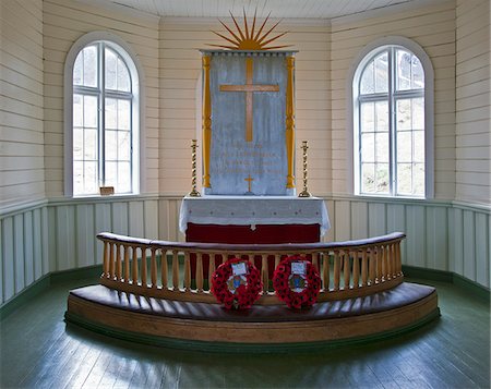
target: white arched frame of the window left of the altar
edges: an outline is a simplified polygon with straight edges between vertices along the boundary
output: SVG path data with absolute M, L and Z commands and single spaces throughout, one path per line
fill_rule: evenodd
M 85 47 L 104 41 L 107 47 L 116 51 L 130 71 L 131 90 L 133 95 L 131 104 L 131 148 L 132 148 L 132 192 L 117 193 L 117 196 L 137 195 L 144 191 L 144 114 L 143 105 L 143 72 L 137 58 L 131 47 L 120 37 L 108 32 L 92 32 L 79 38 L 71 47 L 64 63 L 64 195 L 68 197 L 100 197 L 100 194 L 76 194 L 73 193 L 73 94 L 76 89 L 84 87 L 73 86 L 73 69 L 76 57 Z M 104 45 L 103 45 L 104 46 Z M 104 51 L 104 49 L 103 49 Z M 100 60 L 100 59 L 99 59 Z M 100 85 L 99 85 L 100 88 Z M 110 93 L 110 95 L 113 95 Z M 116 92 L 116 95 L 118 93 Z M 100 96 L 100 95 L 99 95 Z M 101 90 L 101 97 L 107 97 L 107 90 Z M 100 98 L 100 97 L 99 97 Z M 104 119 L 104 114 L 101 116 Z M 99 120 L 100 114 L 99 114 Z M 104 121 L 101 121 L 104 123 Z M 103 125 L 104 129 L 104 125 Z M 104 131 L 101 132 L 104 136 Z M 100 153 L 100 148 L 98 148 Z M 103 150 L 104 153 L 104 150 Z M 100 158 L 100 154 L 99 154 Z M 104 165 L 104 163 L 103 163 Z

